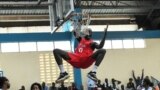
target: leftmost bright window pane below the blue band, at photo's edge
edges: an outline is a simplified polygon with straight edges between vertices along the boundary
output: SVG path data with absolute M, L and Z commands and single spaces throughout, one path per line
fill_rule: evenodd
M 1 43 L 2 52 L 19 52 L 18 43 Z

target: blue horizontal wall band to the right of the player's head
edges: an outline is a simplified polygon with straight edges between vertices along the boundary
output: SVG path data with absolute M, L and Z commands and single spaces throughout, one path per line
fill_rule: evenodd
M 93 39 L 101 39 L 104 32 L 93 32 Z M 160 31 L 114 31 L 108 32 L 106 39 L 128 39 L 128 38 L 160 38 Z

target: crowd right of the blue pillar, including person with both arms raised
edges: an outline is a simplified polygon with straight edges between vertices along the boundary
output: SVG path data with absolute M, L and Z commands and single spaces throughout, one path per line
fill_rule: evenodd
M 160 83 L 154 84 L 149 76 L 144 78 L 144 70 L 142 70 L 142 75 L 135 77 L 134 71 L 132 71 L 133 78 L 129 78 L 127 85 L 122 84 L 121 81 L 114 78 L 111 79 L 109 83 L 108 79 L 105 78 L 104 83 L 98 80 L 98 83 L 90 83 L 93 85 L 88 85 L 88 90 L 160 90 Z

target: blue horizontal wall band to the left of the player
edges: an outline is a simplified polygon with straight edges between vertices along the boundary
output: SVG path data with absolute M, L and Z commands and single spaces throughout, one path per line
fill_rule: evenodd
M 0 42 L 29 42 L 29 41 L 61 41 L 70 40 L 70 32 L 56 33 L 10 33 L 0 34 Z

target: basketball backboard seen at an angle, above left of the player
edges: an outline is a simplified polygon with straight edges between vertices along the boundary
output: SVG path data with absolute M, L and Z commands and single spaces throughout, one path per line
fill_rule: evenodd
M 49 0 L 53 6 L 49 6 L 51 33 L 65 18 L 74 11 L 73 0 Z

